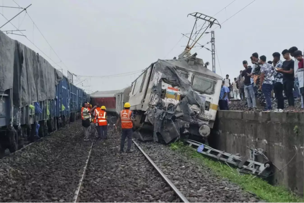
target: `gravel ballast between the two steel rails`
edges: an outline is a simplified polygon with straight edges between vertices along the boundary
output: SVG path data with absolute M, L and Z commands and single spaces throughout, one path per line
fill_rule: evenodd
M 120 135 L 109 126 L 108 139 L 95 140 L 78 200 L 180 202 L 134 144 L 132 153 L 119 153 Z

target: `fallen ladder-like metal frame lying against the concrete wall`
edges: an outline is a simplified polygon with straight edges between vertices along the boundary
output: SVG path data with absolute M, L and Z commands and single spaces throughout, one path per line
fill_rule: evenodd
M 252 159 L 248 159 L 247 156 L 237 156 L 217 149 L 213 149 L 212 147 L 204 145 L 200 142 L 196 142 L 194 140 L 185 139 L 184 141 L 188 143 L 189 147 L 195 146 L 196 151 L 205 156 L 223 161 L 231 166 L 237 167 L 239 169 L 239 172 L 250 173 L 261 177 L 267 177 L 269 175 L 271 162 L 260 163 Z M 267 172 L 265 173 L 265 171 Z

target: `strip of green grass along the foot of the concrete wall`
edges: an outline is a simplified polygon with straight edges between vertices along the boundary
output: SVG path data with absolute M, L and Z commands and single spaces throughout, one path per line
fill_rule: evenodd
M 244 191 L 253 192 L 261 200 L 267 202 L 303 202 L 303 198 L 300 198 L 284 187 L 270 185 L 261 178 L 255 177 L 253 179 L 254 176 L 252 175 L 240 174 L 226 163 L 208 159 L 196 152 L 195 149 L 185 146 L 182 142 L 172 143 L 170 148 L 182 152 L 190 159 L 207 166 L 218 177 L 227 178 L 230 182 L 238 184 Z

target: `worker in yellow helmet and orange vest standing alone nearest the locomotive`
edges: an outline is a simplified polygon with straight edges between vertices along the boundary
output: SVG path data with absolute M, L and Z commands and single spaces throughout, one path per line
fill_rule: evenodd
M 117 119 L 115 128 L 119 121 L 121 121 L 122 135 L 120 140 L 120 153 L 123 153 L 123 148 L 125 146 L 125 140 L 128 138 L 127 153 L 131 153 L 132 146 L 132 134 L 133 134 L 133 112 L 130 110 L 130 103 L 126 102 L 123 106 L 125 109 L 120 111 L 120 117 Z

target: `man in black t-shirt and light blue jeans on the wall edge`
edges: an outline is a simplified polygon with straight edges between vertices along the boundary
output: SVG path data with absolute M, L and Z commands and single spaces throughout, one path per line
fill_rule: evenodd
M 242 72 L 242 76 L 245 78 L 244 80 L 245 97 L 247 99 L 248 110 L 252 110 L 252 108 L 255 109 L 257 107 L 255 102 L 253 86 L 251 85 L 251 80 L 250 80 L 251 78 L 250 74 L 252 68 L 248 67 L 247 61 L 243 61 L 243 65 L 245 67 L 245 70 Z

